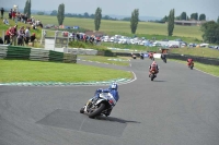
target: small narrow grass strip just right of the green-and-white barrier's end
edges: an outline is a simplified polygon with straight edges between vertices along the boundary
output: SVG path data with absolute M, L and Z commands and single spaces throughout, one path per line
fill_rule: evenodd
M 125 65 L 125 67 L 129 65 L 128 59 L 119 58 L 119 57 L 79 56 L 79 58 L 83 60 L 97 61 L 97 62 L 108 63 L 108 64 Z

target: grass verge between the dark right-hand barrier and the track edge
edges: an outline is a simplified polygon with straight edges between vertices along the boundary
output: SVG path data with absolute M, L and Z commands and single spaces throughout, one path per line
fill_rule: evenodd
M 182 61 L 182 60 L 175 60 L 175 59 L 169 59 L 169 60 L 186 64 L 186 62 Z M 215 76 L 219 76 L 219 67 L 218 65 L 209 65 L 209 64 L 203 64 L 203 63 L 195 62 L 195 69 L 198 69 L 206 73 L 212 74 Z

